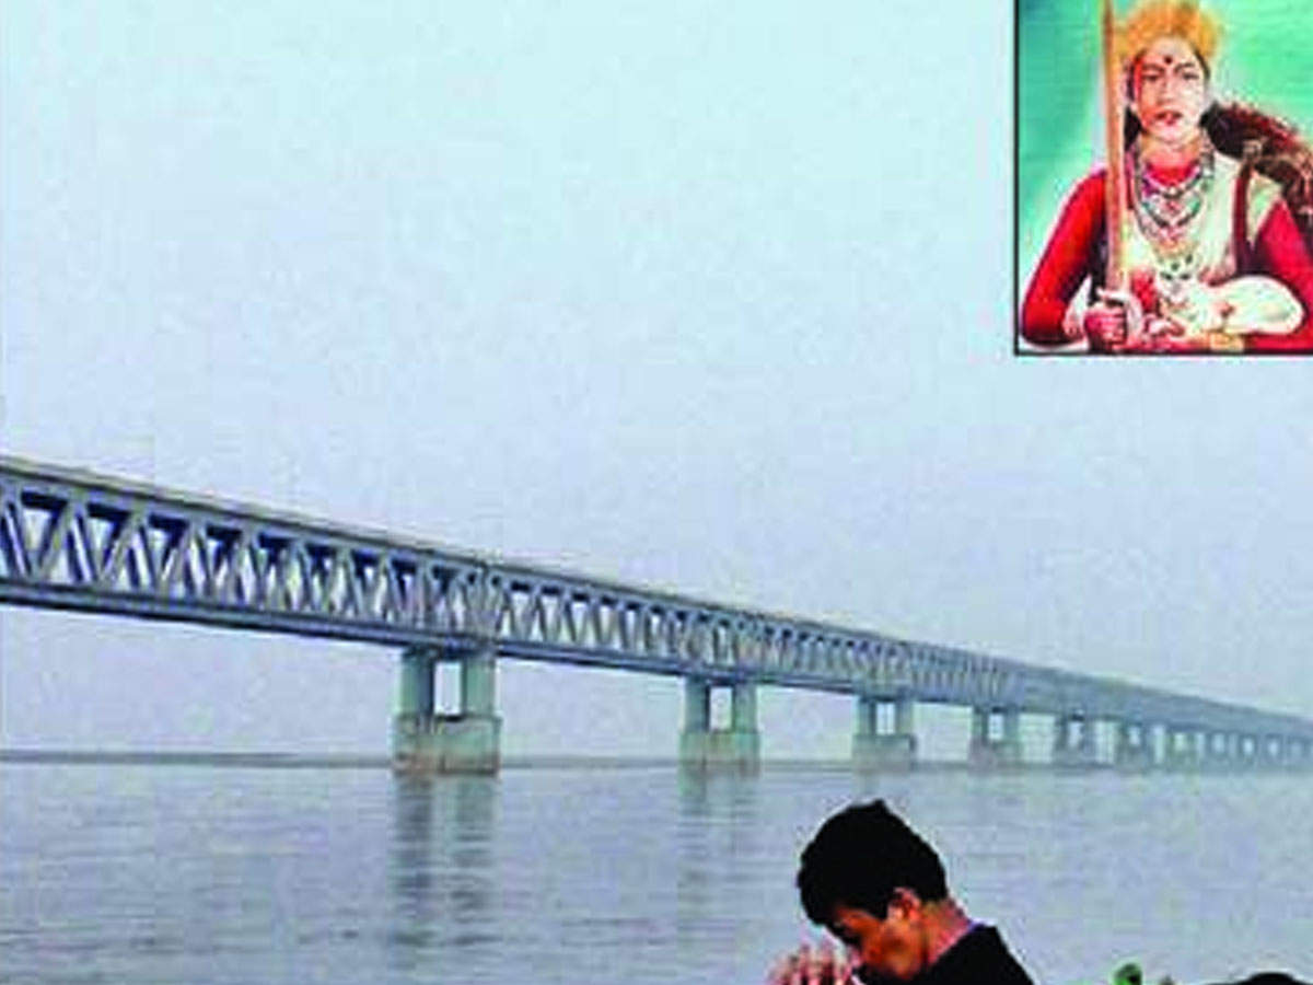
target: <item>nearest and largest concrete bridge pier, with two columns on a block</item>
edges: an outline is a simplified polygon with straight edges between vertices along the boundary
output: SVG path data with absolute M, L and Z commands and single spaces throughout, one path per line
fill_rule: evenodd
M 435 709 L 435 674 L 444 657 L 460 659 L 461 707 Z M 412 646 L 402 653 L 398 708 L 393 718 L 393 770 L 404 774 L 495 774 L 502 764 L 502 720 L 496 714 L 496 651 L 452 655 Z

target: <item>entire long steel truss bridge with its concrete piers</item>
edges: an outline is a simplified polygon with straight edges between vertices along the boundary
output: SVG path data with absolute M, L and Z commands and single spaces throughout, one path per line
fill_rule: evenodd
M 689 766 L 755 766 L 758 688 L 785 687 L 853 696 L 857 768 L 915 763 L 918 704 L 970 708 L 966 759 L 982 768 L 1023 763 L 1023 713 L 1052 717 L 1058 767 L 1313 768 L 1313 721 L 1296 716 L 4 456 L 0 603 L 393 647 L 402 771 L 498 770 L 502 658 L 683 678 Z M 435 707 L 444 661 L 460 665 L 448 714 Z M 730 692 L 726 728 L 712 725 L 716 688 Z

